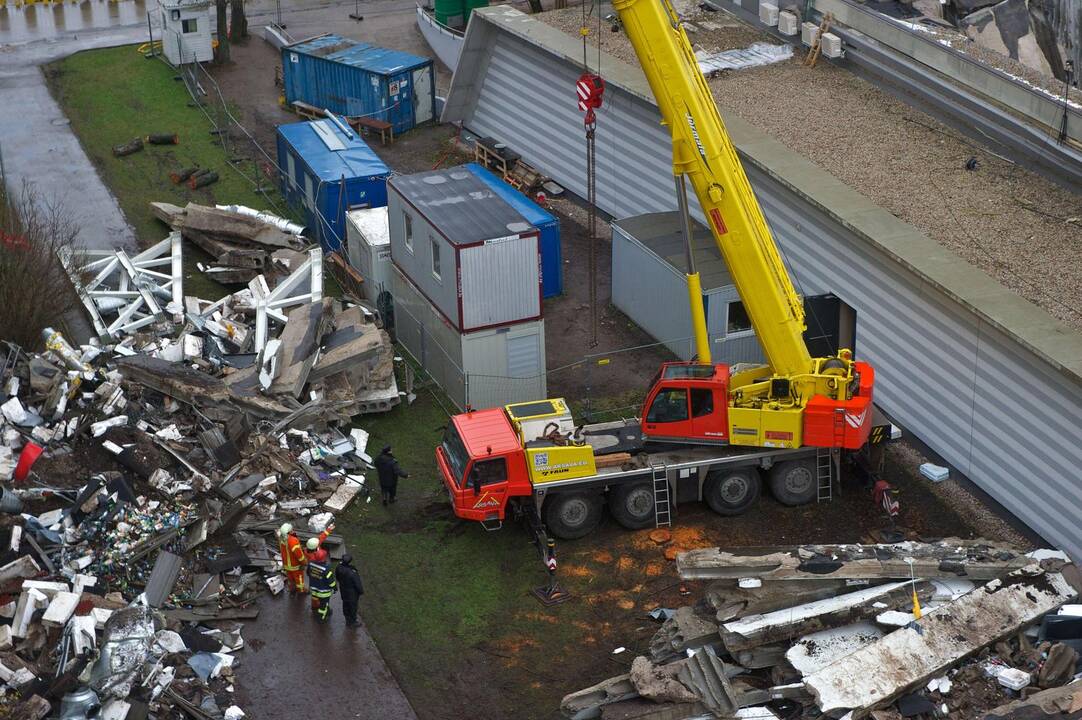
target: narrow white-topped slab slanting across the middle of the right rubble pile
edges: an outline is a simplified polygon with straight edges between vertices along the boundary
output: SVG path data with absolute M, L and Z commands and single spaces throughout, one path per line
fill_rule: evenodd
M 926 599 L 932 592 L 931 584 L 916 584 L 918 597 Z M 910 582 L 892 582 L 764 615 L 750 615 L 722 625 L 722 641 L 729 652 L 787 641 L 874 617 L 884 610 L 884 605 L 902 606 L 909 603 L 911 593 Z

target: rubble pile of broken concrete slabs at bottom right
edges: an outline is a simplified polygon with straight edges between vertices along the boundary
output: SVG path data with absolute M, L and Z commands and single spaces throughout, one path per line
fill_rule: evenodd
M 575 720 L 1082 717 L 1082 574 L 1059 552 L 948 538 L 681 553 L 699 602 Z

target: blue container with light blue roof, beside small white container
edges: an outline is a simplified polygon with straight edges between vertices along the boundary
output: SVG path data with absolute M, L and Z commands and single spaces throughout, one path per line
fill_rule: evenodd
M 341 118 L 280 125 L 277 140 L 282 195 L 324 248 L 341 248 L 347 210 L 387 205 L 391 169 Z

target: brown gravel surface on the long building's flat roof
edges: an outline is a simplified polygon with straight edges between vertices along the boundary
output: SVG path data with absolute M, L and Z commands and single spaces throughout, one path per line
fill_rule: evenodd
M 539 15 L 578 35 L 579 9 Z M 725 13 L 692 13 L 697 50 L 776 42 Z M 623 32 L 603 50 L 637 64 Z M 848 70 L 803 52 L 710 80 L 718 106 L 752 122 L 1050 314 L 1082 329 L 1082 200 L 1005 161 Z M 1050 142 L 1052 142 L 1050 140 Z M 969 158 L 976 170 L 967 170 Z

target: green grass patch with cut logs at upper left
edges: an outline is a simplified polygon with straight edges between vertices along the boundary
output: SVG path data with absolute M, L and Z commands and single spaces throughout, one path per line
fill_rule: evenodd
M 44 71 L 72 131 L 113 191 L 140 243 L 147 246 L 168 233 L 150 212 L 149 202 L 155 200 L 180 206 L 239 204 L 273 210 L 252 183 L 228 165 L 225 150 L 210 132 L 210 120 L 190 105 L 192 97 L 184 83 L 174 79 L 174 70 L 160 60 L 144 58 L 135 48 L 79 52 L 45 66 Z M 151 133 L 175 133 L 181 142 L 146 145 L 127 157 L 113 155 L 115 145 Z M 170 171 L 193 166 L 214 170 L 219 181 L 193 191 L 169 180 Z M 253 175 L 251 161 L 241 168 L 252 180 L 273 187 L 269 179 Z M 270 197 L 285 211 L 286 204 L 276 188 L 270 191 Z M 185 254 L 188 292 L 208 299 L 224 294 L 222 286 L 195 270 L 196 260 L 206 258 L 195 248 L 186 248 Z

